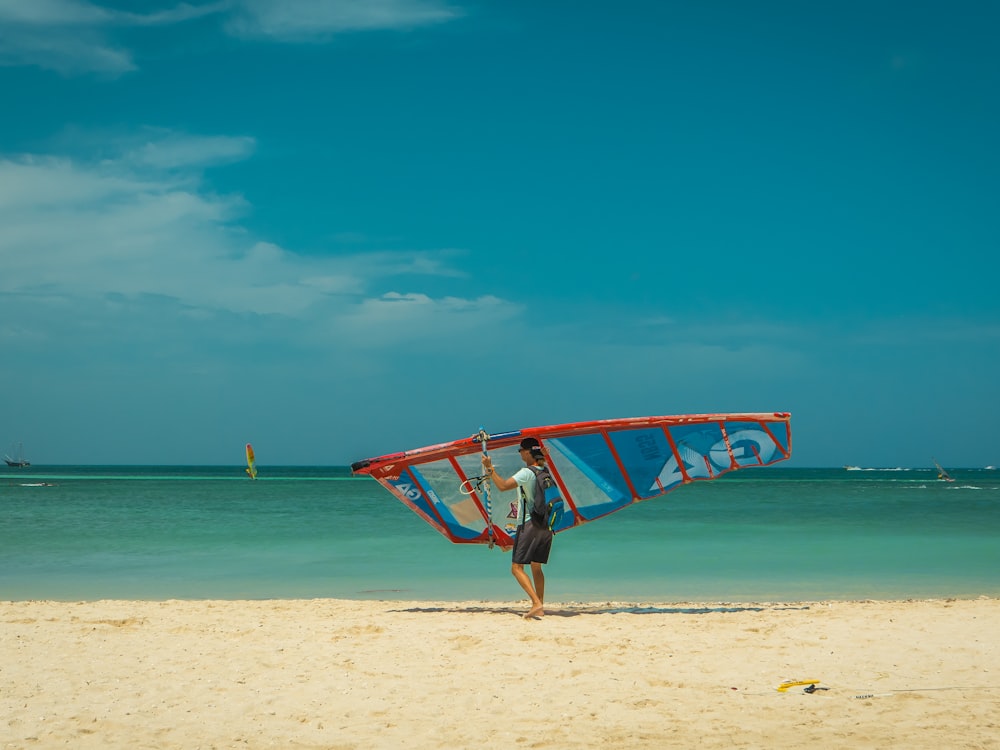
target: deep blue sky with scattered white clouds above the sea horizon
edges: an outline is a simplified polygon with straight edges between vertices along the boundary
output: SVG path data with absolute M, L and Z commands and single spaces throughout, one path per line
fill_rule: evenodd
M 1000 464 L 1000 5 L 0 0 L 0 446 L 791 411 Z

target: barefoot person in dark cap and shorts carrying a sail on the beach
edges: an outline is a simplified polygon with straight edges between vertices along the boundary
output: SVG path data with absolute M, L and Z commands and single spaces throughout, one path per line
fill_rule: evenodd
M 545 614 L 545 573 L 542 571 L 542 565 L 549 561 L 552 531 L 545 524 L 544 517 L 539 516 L 534 509 L 537 479 L 531 467 L 544 469 L 545 453 L 535 438 L 522 440 L 519 451 L 521 460 L 524 461 L 524 468 L 519 469 L 514 476 L 504 479 L 498 475 L 489 456 L 483 456 L 483 471 L 501 492 L 518 488 L 522 499 L 521 507 L 531 511 L 530 514 L 522 512 L 510 566 L 510 572 L 515 580 L 531 599 L 531 609 L 524 616 L 525 619 L 530 619 Z M 528 564 L 531 565 L 531 578 L 524 570 L 524 566 Z

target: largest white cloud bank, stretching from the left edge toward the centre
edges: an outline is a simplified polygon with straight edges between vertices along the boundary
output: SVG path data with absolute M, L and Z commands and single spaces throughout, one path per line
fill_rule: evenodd
M 317 330 L 340 320 L 374 337 L 390 326 L 437 335 L 505 308 L 492 297 L 385 289 L 388 277 L 395 285 L 461 276 L 451 265 L 459 251 L 306 256 L 255 239 L 239 224 L 246 202 L 205 190 L 200 175 L 249 154 L 252 139 L 157 136 L 97 163 L 0 159 L 0 294 L 48 304 L 156 297 L 189 312 L 280 315 Z

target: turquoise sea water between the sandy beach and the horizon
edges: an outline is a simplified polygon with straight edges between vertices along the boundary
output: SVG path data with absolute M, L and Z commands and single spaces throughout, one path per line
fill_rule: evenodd
M 0 599 L 517 600 L 509 555 L 453 545 L 342 467 L 0 471 Z M 547 599 L 1000 596 L 1000 472 L 763 468 L 556 537 Z

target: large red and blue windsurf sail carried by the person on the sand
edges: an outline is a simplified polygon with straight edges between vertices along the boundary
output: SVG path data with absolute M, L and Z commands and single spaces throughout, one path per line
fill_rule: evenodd
M 351 465 L 370 476 L 447 539 L 507 547 L 517 533 L 516 492 L 486 492 L 481 456 L 502 476 L 524 466 L 518 445 L 535 437 L 564 500 L 553 531 L 566 531 L 683 484 L 769 466 L 792 454 L 791 415 L 693 414 L 630 417 L 529 427 L 368 458 Z

